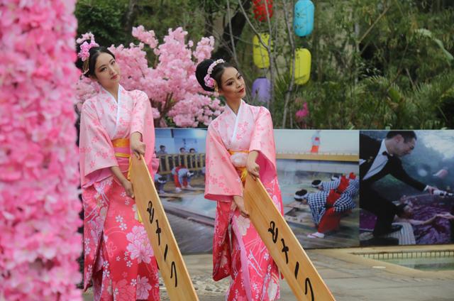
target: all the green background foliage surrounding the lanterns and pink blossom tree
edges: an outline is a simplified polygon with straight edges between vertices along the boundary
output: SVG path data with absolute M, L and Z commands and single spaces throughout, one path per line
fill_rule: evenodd
M 313 33 L 295 38 L 297 48 L 311 51 L 311 80 L 289 92 L 285 127 L 301 125 L 294 114 L 307 102 L 310 112 L 304 127 L 309 128 L 454 128 L 451 2 L 314 1 Z M 131 3 L 134 9 L 128 11 Z M 227 0 L 79 0 L 78 33 L 92 31 L 104 45 L 130 43 L 131 28 L 125 23 L 131 16 L 131 26 L 153 29 L 157 38 L 168 28 L 182 26 L 192 40 L 215 35 L 219 47 L 228 22 L 226 4 Z M 270 107 L 275 126 L 282 124 L 292 62 L 284 5 L 292 15 L 292 1 L 274 1 L 271 28 L 277 56 Z M 230 1 L 230 7 L 232 17 L 238 1 Z M 258 31 L 268 31 L 267 23 L 255 21 L 250 11 L 248 18 Z M 236 43 L 238 67 L 248 87 L 255 78 L 268 75 L 253 65 L 254 34 L 246 24 Z M 149 58 L 153 60 L 153 54 Z

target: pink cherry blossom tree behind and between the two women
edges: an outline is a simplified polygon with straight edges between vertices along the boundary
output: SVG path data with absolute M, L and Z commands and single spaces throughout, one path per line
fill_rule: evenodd
M 143 26 L 133 28 L 132 34 L 140 40 L 129 47 L 111 45 L 121 67 L 121 84 L 125 89 L 140 89 L 150 98 L 156 126 L 167 126 L 171 121 L 176 126 L 208 126 L 223 107 L 213 94 L 205 92 L 195 77 L 197 63 L 210 58 L 214 49 L 214 38 L 201 38 L 195 45 L 186 42 L 187 31 L 179 27 L 169 29 L 163 43 L 159 44 L 153 31 L 145 31 Z M 87 33 L 77 40 L 92 40 Z M 149 66 L 144 50 L 148 45 L 157 57 L 155 66 Z M 95 94 L 99 87 L 96 82 L 81 78 L 77 83 L 79 102 Z

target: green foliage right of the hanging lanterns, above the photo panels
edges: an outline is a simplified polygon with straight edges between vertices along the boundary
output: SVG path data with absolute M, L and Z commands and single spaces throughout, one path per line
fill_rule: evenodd
M 299 94 L 309 103 L 307 124 L 453 127 L 454 10 L 427 11 L 416 2 L 316 5 L 311 82 Z

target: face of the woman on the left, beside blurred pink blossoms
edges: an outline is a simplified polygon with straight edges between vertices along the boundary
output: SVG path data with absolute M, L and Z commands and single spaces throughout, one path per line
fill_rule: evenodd
M 120 66 L 109 53 L 101 53 L 94 66 L 96 80 L 104 88 L 115 87 L 120 82 Z

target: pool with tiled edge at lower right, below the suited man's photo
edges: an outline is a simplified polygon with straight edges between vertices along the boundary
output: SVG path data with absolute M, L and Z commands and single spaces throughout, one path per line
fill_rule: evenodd
M 355 254 L 416 270 L 454 270 L 454 250 Z

